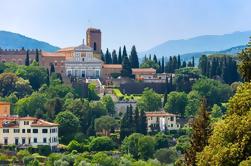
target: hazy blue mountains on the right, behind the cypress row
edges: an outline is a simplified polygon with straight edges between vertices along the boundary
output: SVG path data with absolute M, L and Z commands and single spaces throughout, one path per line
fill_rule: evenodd
M 145 54 L 156 54 L 157 57 L 173 56 L 177 54 L 196 54 L 201 52 L 218 52 L 235 46 L 243 46 L 248 43 L 251 31 L 234 32 L 225 35 L 204 35 L 190 39 L 170 40 L 153 47 L 150 50 L 139 53 L 142 57 Z M 228 51 L 229 52 L 229 51 Z

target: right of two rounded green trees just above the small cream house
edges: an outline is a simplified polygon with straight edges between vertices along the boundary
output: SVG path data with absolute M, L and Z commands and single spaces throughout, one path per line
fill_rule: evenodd
M 169 113 L 184 115 L 187 95 L 184 92 L 170 92 L 167 96 L 165 110 Z

